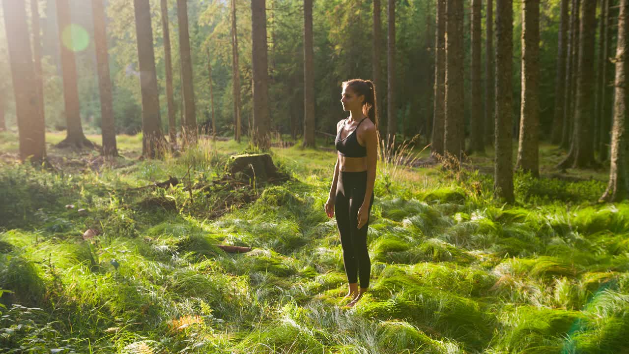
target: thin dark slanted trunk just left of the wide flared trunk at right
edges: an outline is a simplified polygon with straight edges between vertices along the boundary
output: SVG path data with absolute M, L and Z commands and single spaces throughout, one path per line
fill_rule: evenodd
M 574 101 L 576 101 L 576 72 L 577 56 L 579 54 L 579 8 L 581 1 L 572 0 L 571 21 L 570 21 L 570 42 L 568 43 L 567 69 L 565 72 L 565 106 L 564 106 L 564 127 L 560 147 L 568 149 L 572 139 L 572 124 L 574 122 Z

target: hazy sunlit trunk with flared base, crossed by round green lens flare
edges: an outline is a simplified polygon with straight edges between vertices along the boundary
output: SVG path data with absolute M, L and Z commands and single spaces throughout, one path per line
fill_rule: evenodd
M 87 140 L 83 134 L 81 125 L 77 69 L 70 24 L 70 5 L 68 0 L 57 0 L 57 25 L 59 45 L 61 46 L 61 66 L 64 76 L 65 123 L 67 125 L 67 137 L 58 146 L 93 147 L 94 144 Z

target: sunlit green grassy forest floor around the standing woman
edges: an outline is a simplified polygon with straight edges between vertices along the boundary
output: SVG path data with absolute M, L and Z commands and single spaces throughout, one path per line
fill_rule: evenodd
M 246 143 L 159 161 L 135 159 L 138 137 L 118 144 L 124 157 L 98 163 L 51 146 L 51 173 L 11 162 L 0 135 L 3 352 L 629 353 L 629 204 L 594 203 L 604 171 L 557 174 L 554 147 L 544 178 L 516 175 L 510 206 L 477 170 L 379 164 L 372 286 L 348 309 L 323 212 L 334 152 L 274 148 L 291 181 L 191 190 Z M 182 183 L 140 188 L 169 176 Z

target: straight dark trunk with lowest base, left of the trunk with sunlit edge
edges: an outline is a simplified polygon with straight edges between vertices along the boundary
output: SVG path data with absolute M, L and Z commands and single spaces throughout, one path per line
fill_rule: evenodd
M 513 0 L 496 1 L 496 197 L 513 203 L 513 141 L 511 139 L 513 86 Z

